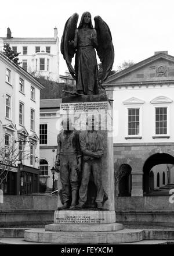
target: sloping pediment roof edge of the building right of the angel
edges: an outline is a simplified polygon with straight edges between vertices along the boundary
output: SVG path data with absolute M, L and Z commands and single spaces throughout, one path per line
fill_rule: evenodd
M 155 55 L 151 56 L 150 58 L 144 59 L 143 61 L 140 61 L 140 62 L 136 63 L 135 65 L 132 65 L 131 67 L 128 67 L 124 70 L 121 70 L 118 73 L 111 75 L 110 77 L 108 77 L 108 79 L 103 84 L 103 86 L 107 86 L 108 84 L 115 83 L 115 81 L 117 79 L 120 79 L 121 77 L 124 77 L 124 76 L 130 74 L 131 72 L 135 72 L 136 70 L 139 70 L 142 67 L 144 67 L 152 62 L 155 62 L 159 59 L 164 59 L 166 61 L 170 61 L 170 62 L 174 63 L 174 56 L 165 54 L 164 52 L 160 52 L 159 54 L 155 54 Z

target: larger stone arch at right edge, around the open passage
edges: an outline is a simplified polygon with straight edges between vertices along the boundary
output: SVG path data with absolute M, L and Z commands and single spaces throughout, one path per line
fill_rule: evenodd
M 155 148 L 146 154 L 146 156 L 147 155 L 148 157 L 143 165 L 143 191 L 145 194 L 148 193 L 150 189 L 149 174 L 151 168 L 162 163 L 171 163 L 174 165 L 174 152 L 168 148 Z

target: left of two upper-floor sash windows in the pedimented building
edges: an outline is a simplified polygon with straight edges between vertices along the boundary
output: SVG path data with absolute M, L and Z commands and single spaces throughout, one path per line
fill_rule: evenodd
M 139 135 L 140 127 L 140 109 L 130 108 L 128 109 L 128 135 Z

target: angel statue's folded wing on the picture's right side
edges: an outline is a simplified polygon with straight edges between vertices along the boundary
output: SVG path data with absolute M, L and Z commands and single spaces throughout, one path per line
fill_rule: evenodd
M 102 62 L 103 75 L 102 83 L 107 79 L 114 63 L 114 46 L 112 42 L 111 31 L 106 22 L 100 17 L 96 16 L 95 30 L 97 32 L 97 54 Z

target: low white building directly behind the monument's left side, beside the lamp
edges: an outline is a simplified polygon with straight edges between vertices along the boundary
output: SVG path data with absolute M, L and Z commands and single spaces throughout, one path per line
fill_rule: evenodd
M 52 188 L 50 169 L 55 166 L 57 134 L 60 132 L 61 99 L 41 99 L 40 104 L 40 181 Z M 58 175 L 55 175 L 58 179 Z

